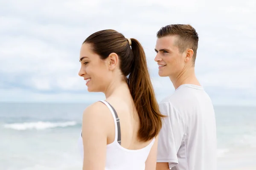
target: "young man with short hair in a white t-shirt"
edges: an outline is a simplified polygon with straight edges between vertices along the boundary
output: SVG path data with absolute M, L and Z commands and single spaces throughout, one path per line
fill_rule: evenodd
M 160 102 L 167 115 L 159 134 L 157 170 L 216 170 L 216 124 L 212 101 L 195 76 L 198 34 L 175 24 L 157 32 L 155 61 L 174 94 Z

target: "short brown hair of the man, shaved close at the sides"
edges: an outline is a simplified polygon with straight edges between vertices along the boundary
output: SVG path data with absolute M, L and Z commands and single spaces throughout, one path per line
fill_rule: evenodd
M 198 49 L 198 33 L 195 31 L 189 24 L 171 24 L 160 28 L 157 32 L 157 38 L 177 35 L 178 39 L 175 42 L 179 52 L 183 53 L 187 48 L 190 48 L 194 51 L 193 54 L 193 66 L 195 65 L 196 52 Z

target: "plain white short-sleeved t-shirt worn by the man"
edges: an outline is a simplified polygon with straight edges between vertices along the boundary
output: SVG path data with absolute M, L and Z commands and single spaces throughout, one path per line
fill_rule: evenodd
M 215 113 L 204 89 L 180 85 L 159 107 L 168 117 L 159 134 L 157 162 L 168 162 L 172 170 L 216 170 Z

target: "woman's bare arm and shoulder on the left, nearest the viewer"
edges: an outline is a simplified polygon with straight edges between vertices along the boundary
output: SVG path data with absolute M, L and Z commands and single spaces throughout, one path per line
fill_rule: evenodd
M 100 102 L 87 107 L 82 119 L 83 170 L 105 170 L 108 108 Z

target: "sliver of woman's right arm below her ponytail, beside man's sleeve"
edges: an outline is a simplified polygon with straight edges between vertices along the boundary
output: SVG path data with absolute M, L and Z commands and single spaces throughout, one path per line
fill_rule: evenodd
M 157 143 L 158 143 L 158 136 L 155 138 L 154 144 L 151 147 L 149 152 L 148 158 L 145 162 L 145 170 L 156 170 L 157 164 Z

